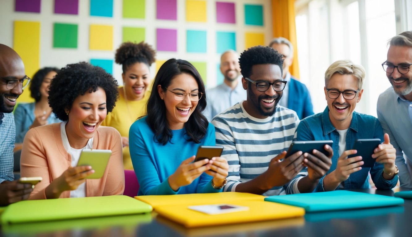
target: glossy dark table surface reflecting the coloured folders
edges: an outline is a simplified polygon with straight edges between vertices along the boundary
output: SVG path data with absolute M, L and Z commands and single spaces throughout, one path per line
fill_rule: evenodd
M 412 189 L 401 189 L 410 191 Z M 352 191 L 393 196 L 392 190 Z M 0 236 L 412 236 L 412 200 L 403 206 L 309 213 L 304 217 L 236 225 L 184 228 L 155 213 L 0 227 Z

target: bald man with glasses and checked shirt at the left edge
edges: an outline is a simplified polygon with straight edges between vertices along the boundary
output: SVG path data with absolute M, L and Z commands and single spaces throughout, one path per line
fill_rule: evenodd
M 20 56 L 10 47 L 0 44 L 0 206 L 25 200 L 33 191 L 30 184 L 13 181 L 16 127 L 12 112 L 16 99 L 29 81 Z

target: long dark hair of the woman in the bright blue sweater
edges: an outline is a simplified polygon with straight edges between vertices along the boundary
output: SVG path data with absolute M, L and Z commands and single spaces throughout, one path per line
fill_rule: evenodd
M 171 58 L 159 68 L 155 81 L 153 82 L 152 93 L 147 101 L 147 124 L 155 133 L 153 140 L 163 145 L 171 142 L 173 133 L 167 122 L 166 106 L 160 98 L 157 86 L 161 85 L 163 90 L 167 91 L 166 87 L 172 83 L 173 79 L 183 73 L 194 77 L 199 86 L 199 92 L 205 93 L 203 80 L 196 68 L 186 60 Z M 169 91 L 166 93 L 169 93 Z M 201 139 L 206 135 L 209 122 L 202 114 L 205 108 L 206 96 L 202 96 L 193 113 L 190 115 L 189 120 L 185 123 L 186 134 L 189 136 L 188 138 L 185 136 L 187 141 L 200 143 Z

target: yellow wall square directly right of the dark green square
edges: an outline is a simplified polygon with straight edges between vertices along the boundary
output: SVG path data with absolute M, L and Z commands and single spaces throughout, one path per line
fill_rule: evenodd
M 91 50 L 113 50 L 113 26 L 90 25 Z

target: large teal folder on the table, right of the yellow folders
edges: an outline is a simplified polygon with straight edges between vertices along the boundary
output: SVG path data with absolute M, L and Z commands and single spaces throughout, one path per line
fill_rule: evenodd
M 307 212 L 388 207 L 404 203 L 403 199 L 398 197 L 346 190 L 270 196 L 266 197 L 265 201 L 303 207 Z

